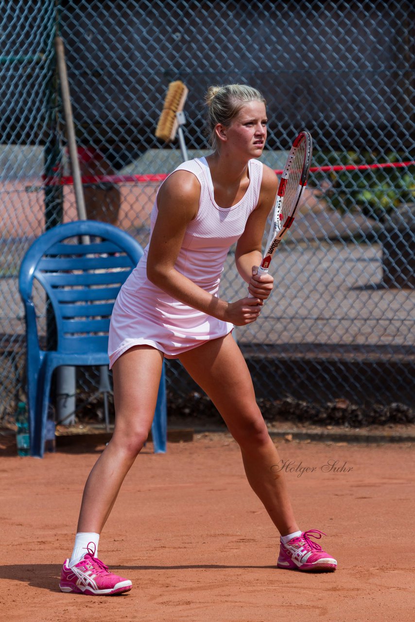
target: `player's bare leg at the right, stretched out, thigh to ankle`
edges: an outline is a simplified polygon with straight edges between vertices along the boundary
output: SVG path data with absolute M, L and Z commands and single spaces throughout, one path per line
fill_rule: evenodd
M 280 458 L 255 401 L 248 367 L 231 335 L 180 355 L 190 376 L 207 392 L 240 445 L 246 477 L 281 536 L 299 531 L 286 482 L 274 472 Z

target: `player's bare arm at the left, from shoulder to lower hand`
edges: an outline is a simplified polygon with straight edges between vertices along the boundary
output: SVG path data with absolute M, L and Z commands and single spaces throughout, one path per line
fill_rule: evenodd
M 147 257 L 147 278 L 176 300 L 236 325 L 254 322 L 258 299 L 230 303 L 209 294 L 175 269 L 187 225 L 197 214 L 200 184 L 187 171 L 177 171 L 163 183 L 157 196 L 159 214 Z

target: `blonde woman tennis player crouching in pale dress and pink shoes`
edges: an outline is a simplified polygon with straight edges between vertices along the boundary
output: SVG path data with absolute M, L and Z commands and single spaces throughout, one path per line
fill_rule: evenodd
M 121 288 L 111 317 L 109 355 L 116 422 L 91 470 L 63 592 L 110 595 L 131 590 L 98 559 L 98 541 L 126 473 L 151 429 L 163 358 L 179 358 L 212 399 L 240 446 L 246 477 L 281 536 L 277 566 L 335 570 L 337 562 L 294 518 L 276 447 L 231 332 L 258 320 L 273 277 L 258 276 L 261 241 L 277 178 L 258 161 L 267 134 L 265 101 L 245 85 L 207 93 L 212 154 L 181 164 L 162 183 L 144 256 Z M 218 287 L 228 250 L 249 297 L 228 302 Z

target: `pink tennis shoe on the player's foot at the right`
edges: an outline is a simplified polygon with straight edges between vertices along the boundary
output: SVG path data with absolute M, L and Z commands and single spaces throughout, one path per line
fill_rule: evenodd
M 318 529 L 309 529 L 309 531 L 303 531 L 301 536 L 292 538 L 287 544 L 281 542 L 277 567 L 287 570 L 333 572 L 337 568 L 337 561 L 317 542 L 310 540 L 310 536 L 320 539 L 321 534 L 325 536 Z

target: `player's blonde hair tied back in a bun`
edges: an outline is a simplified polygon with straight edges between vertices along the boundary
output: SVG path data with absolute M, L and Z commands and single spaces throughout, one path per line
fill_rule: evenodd
M 218 123 L 228 128 L 240 109 L 250 101 L 266 101 L 256 88 L 245 84 L 227 84 L 225 86 L 209 86 L 205 101 L 208 107 L 207 137 L 210 146 L 217 149 L 218 142 L 215 128 Z

